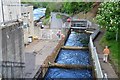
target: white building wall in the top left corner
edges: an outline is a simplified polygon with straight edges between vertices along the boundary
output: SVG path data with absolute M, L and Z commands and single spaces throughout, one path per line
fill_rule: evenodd
M 2 10 L 3 7 L 3 10 Z M 0 0 L 0 23 L 21 18 L 21 0 Z

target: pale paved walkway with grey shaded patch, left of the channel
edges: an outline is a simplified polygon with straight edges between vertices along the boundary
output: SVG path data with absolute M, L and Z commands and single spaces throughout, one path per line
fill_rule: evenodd
M 35 40 L 25 48 L 25 78 L 33 78 L 58 41 Z

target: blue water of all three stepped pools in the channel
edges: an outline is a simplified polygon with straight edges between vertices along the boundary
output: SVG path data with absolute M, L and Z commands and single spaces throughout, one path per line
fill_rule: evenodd
M 65 46 L 74 47 L 87 47 L 89 42 L 90 34 L 87 33 L 77 33 L 72 31 L 66 42 Z M 55 63 L 59 64 L 69 64 L 69 65 L 91 65 L 91 55 L 89 49 L 85 50 L 72 50 L 72 49 L 61 49 Z M 93 78 L 92 70 L 90 69 L 67 69 L 67 68 L 49 68 L 45 79 L 50 78 L 87 78 L 91 80 Z M 52 79 L 54 80 L 54 79 Z

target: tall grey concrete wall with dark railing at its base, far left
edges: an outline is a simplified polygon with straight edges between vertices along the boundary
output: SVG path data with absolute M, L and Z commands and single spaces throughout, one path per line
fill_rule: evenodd
M 22 22 L 12 22 L 0 29 L 0 68 L 3 78 L 22 78 L 24 73 L 24 42 Z

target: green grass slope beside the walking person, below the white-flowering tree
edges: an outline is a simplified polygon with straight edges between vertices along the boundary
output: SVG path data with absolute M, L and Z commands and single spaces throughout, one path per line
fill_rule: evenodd
M 110 63 L 112 64 L 112 66 L 114 67 L 116 73 L 119 75 L 120 74 L 120 54 L 119 54 L 119 49 L 120 48 L 120 44 L 119 41 L 115 41 L 115 40 L 110 40 L 107 41 L 105 36 L 103 36 L 100 40 L 100 45 L 102 47 L 108 45 L 109 49 L 110 49 Z

